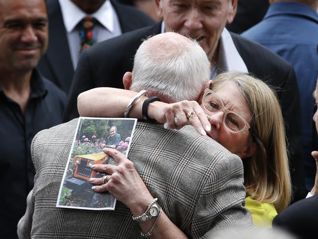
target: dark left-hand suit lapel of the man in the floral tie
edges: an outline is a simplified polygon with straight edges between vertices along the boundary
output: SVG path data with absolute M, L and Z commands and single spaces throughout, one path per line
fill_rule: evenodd
M 49 23 L 49 44 L 45 57 L 47 58 L 49 66 L 52 68 L 56 79 L 59 81 L 59 85 L 62 89 L 69 89 L 74 69 L 72 60 L 69 53 L 68 39 L 66 35 L 66 29 L 63 23 L 62 12 L 60 4 L 57 0 L 48 1 L 47 11 Z M 57 32 L 62 32 L 59 35 Z M 58 48 L 57 48 L 58 47 Z M 61 82 L 61 79 L 67 79 Z

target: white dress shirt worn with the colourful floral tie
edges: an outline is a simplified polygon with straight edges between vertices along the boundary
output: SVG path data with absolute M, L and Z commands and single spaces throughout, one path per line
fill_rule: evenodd
M 88 15 L 82 11 L 71 0 L 59 0 L 62 17 L 67 30 L 68 46 L 74 70 L 77 66 L 80 50 L 80 36 L 76 25 L 85 17 L 95 18 L 100 24 L 95 24 L 93 35 L 97 42 L 116 37 L 122 33 L 117 13 L 110 0 L 106 0 L 103 5 L 93 14 Z

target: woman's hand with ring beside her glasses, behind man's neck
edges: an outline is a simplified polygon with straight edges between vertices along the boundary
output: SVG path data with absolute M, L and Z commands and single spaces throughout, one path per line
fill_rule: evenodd
M 211 130 L 211 125 L 203 109 L 197 101 L 183 100 L 177 103 L 166 104 L 158 102 L 149 104 L 148 115 L 160 123 L 165 123 L 167 129 L 181 129 L 191 124 L 201 134 Z

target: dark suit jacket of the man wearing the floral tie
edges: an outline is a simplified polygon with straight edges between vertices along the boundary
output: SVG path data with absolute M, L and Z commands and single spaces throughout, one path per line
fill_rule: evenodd
M 116 0 L 111 0 L 111 2 L 118 15 L 122 33 L 155 23 L 135 7 L 118 3 Z M 47 0 L 47 14 L 49 21 L 49 43 L 46 54 L 38 65 L 38 69 L 46 78 L 68 94 L 74 75 L 74 68 L 58 0 Z

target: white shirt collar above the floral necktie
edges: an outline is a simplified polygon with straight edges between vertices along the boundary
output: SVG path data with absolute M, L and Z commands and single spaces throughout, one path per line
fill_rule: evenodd
M 71 0 L 59 0 L 59 2 L 61 5 L 64 25 L 69 33 L 74 30 L 75 26 L 83 18 L 88 15 Z M 110 32 L 114 31 L 114 7 L 110 0 L 106 0 L 96 12 L 89 16 L 96 18 L 98 22 Z

